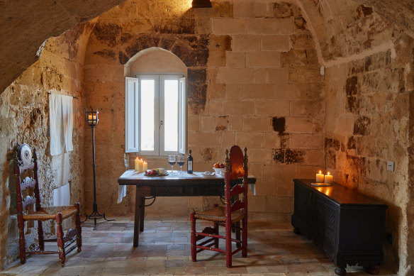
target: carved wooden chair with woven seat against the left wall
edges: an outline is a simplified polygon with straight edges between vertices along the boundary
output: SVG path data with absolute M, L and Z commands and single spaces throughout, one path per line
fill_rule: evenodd
M 19 233 L 20 262 L 26 263 L 26 255 L 40 254 L 59 254 L 60 263 L 65 265 L 65 255 L 77 247 L 77 251 L 81 251 L 82 247 L 82 228 L 80 217 L 80 204 L 75 203 L 74 206 L 53 206 L 42 207 L 40 205 L 40 192 L 38 183 L 38 158 L 34 150 L 27 144 L 21 144 L 16 151 L 14 175 L 16 177 L 16 207 L 17 221 Z M 23 179 L 23 181 L 22 181 Z M 26 197 L 23 198 L 24 192 Z M 28 206 L 35 206 L 33 214 L 27 214 Z M 67 231 L 66 236 L 63 235 L 62 221 L 75 216 L 76 228 Z M 42 221 L 53 219 L 57 223 L 57 238 L 45 240 L 43 238 Z M 38 221 L 38 237 L 39 246 L 33 251 L 26 251 L 25 243 L 25 221 Z M 45 241 L 57 241 L 57 251 L 45 251 Z M 69 245 L 77 242 L 71 248 Z

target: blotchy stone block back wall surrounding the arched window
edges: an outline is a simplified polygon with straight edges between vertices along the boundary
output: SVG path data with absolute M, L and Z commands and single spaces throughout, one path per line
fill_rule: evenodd
M 120 19 L 122 18 L 122 19 Z M 254 218 L 287 218 L 292 179 L 323 167 L 323 77 L 300 9 L 273 1 L 215 1 L 190 9 L 189 1 L 127 1 L 96 23 L 85 61 L 86 104 L 101 110 L 96 128 L 98 202 L 127 214 L 132 191 L 116 204 L 124 151 L 124 65 L 159 47 L 188 68 L 189 148 L 195 168 L 211 170 L 225 148 L 246 146 L 257 195 Z M 86 153 L 90 136 L 86 133 Z M 131 155 L 131 160 L 135 155 Z M 166 158 L 147 158 L 167 167 Z M 85 165 L 89 164 L 85 156 Z M 86 175 L 86 200 L 91 177 Z M 157 199 L 154 211 L 179 212 L 210 199 Z M 89 206 L 86 206 L 89 208 Z

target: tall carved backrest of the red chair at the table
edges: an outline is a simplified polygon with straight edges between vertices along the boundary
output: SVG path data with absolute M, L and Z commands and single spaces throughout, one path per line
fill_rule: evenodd
M 239 209 L 244 209 L 247 216 L 247 148 L 245 154 L 239 146 L 233 145 L 230 148 L 230 157 L 228 150 L 225 150 L 225 212 L 231 214 Z M 242 178 L 242 182 L 240 182 Z M 235 184 L 237 183 L 237 184 Z M 242 200 L 236 199 L 232 203 L 232 197 L 242 195 Z

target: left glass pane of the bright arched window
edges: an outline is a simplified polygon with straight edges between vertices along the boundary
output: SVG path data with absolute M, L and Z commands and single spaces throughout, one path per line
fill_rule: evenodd
M 154 150 L 154 79 L 141 80 L 141 150 Z

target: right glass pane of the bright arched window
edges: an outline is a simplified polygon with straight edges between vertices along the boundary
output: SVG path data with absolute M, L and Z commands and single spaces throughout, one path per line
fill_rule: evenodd
M 164 151 L 178 150 L 178 80 L 164 80 Z

